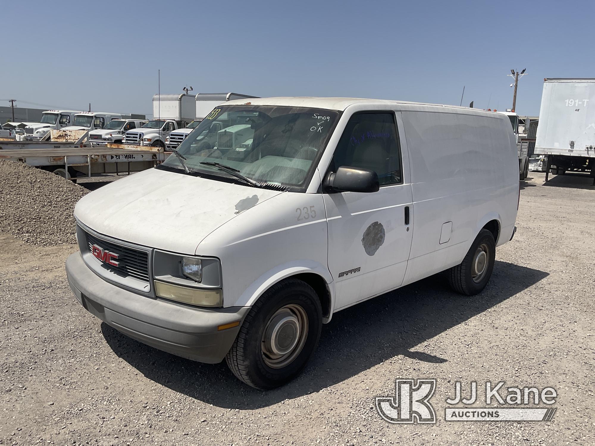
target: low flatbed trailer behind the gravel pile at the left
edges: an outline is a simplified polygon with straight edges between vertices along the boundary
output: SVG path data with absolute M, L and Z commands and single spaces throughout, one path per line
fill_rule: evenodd
M 30 142 L 23 142 L 30 143 Z M 33 144 L 37 144 L 34 142 Z M 43 143 L 42 143 L 43 144 Z M 47 145 L 47 143 L 45 143 Z M 0 143 L 0 159 L 23 162 L 69 180 L 93 174 L 124 174 L 154 167 L 167 158 L 161 147 L 73 147 L 11 148 Z

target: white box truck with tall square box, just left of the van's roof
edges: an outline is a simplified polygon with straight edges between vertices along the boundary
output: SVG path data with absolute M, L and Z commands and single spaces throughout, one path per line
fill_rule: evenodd
M 174 130 L 186 127 L 194 120 L 195 96 L 155 95 L 153 96 L 153 120 L 141 128 L 127 131 L 124 144 L 134 146 L 161 146 Z

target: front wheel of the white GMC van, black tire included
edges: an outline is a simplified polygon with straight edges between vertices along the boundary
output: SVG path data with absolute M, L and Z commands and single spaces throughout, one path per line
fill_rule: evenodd
M 252 306 L 227 353 L 227 365 L 237 378 L 252 387 L 279 387 L 305 368 L 318 346 L 321 329 L 322 307 L 314 289 L 298 279 L 285 279 L 269 288 Z M 289 350 L 275 357 L 270 354 L 275 348 L 277 352 L 282 348 Z

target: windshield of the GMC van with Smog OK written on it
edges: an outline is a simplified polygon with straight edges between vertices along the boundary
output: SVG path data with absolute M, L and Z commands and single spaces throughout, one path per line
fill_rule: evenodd
M 259 183 L 303 187 L 340 113 L 287 106 L 221 106 L 178 147 L 189 169 L 227 177 L 215 162 Z M 177 156 L 165 167 L 183 169 Z

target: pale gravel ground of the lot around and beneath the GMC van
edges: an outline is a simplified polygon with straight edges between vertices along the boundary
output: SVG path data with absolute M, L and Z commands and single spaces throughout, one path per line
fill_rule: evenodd
M 438 275 L 343 310 L 305 372 L 269 392 L 87 313 L 65 278 L 76 247 L 0 235 L 0 444 L 595 444 L 595 188 L 531 176 L 480 296 L 453 294 Z M 374 397 L 394 395 L 397 377 L 437 379 L 435 425 L 380 418 Z M 558 411 L 550 422 L 444 421 L 455 381 L 488 380 L 552 386 Z

